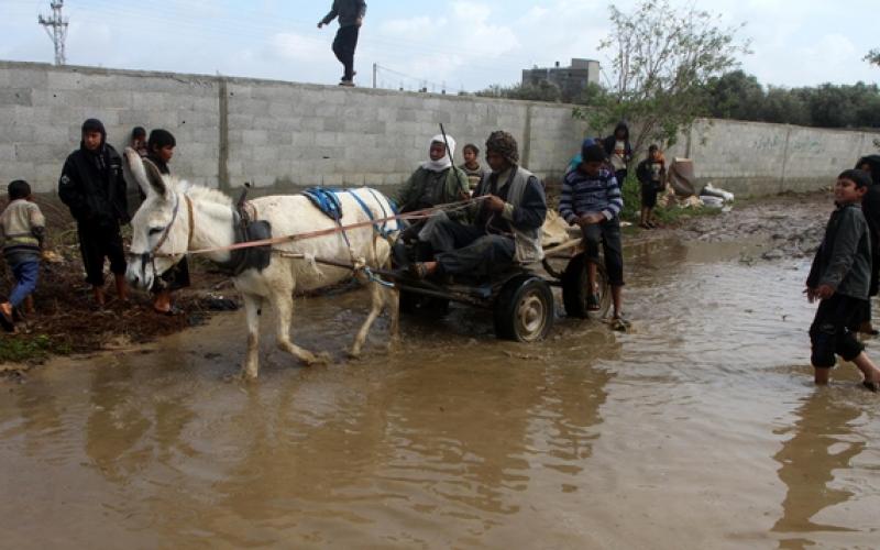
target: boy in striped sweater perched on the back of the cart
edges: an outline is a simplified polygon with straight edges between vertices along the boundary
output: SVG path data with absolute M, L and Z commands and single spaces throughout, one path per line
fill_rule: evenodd
M 581 156 L 578 169 L 568 173 L 562 180 L 559 215 L 569 224 L 581 227 L 587 257 L 598 260 L 598 243 L 603 242 L 605 268 L 614 299 L 614 319 L 619 320 L 623 318 L 620 300 L 624 286 L 619 215 L 624 198 L 614 174 L 603 167 L 605 151 L 601 145 L 583 147 Z M 587 280 L 594 290 L 587 296 L 586 308 L 596 311 L 600 304 L 595 294 L 596 264 L 593 262 L 587 264 Z

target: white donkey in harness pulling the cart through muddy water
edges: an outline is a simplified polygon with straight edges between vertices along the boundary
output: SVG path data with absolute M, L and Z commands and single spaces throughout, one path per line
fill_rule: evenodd
M 234 243 L 235 213 L 232 199 L 207 187 L 189 186 L 173 177 L 163 176 L 150 163 L 143 162 L 131 148 L 125 150 L 127 177 L 136 182 L 146 199 L 132 219 L 132 242 L 127 278 L 140 288 L 151 288 L 156 277 L 165 273 L 189 250 L 222 249 Z M 356 195 L 363 206 L 352 196 Z M 370 222 L 392 216 L 388 199 L 369 188 L 353 189 L 339 195 L 343 226 Z M 332 230 L 336 222 L 316 208 L 302 195 L 276 195 L 250 201 L 256 219 L 272 224 L 273 237 L 297 235 L 321 230 Z M 399 231 L 396 220 L 386 229 Z M 369 267 L 389 267 L 391 245 L 372 224 L 345 231 L 351 249 L 341 232 L 293 240 L 273 245 L 272 260 L 262 271 L 248 268 L 233 277 L 235 288 L 244 298 L 248 317 L 248 354 L 242 375 L 255 378 L 258 364 L 260 312 L 271 304 L 277 317 L 277 344 L 307 364 L 318 361 L 315 354 L 290 341 L 290 322 L 294 314 L 294 290 L 314 290 L 334 285 L 352 276 L 352 271 L 316 264 L 309 258 L 321 258 L 343 264 L 358 261 Z M 206 253 L 216 263 L 230 260 L 229 251 Z M 363 271 L 359 279 L 369 277 Z M 391 311 L 389 345 L 398 339 L 398 294 L 396 289 L 373 282 L 370 285 L 371 309 L 350 354 L 358 356 L 366 340 L 371 324 L 382 312 Z

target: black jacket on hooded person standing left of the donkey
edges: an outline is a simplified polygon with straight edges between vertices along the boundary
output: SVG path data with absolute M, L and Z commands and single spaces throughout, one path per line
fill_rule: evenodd
M 106 143 L 97 153 L 80 144 L 67 157 L 58 180 L 58 197 L 80 223 L 128 223 L 129 208 L 122 157 Z

